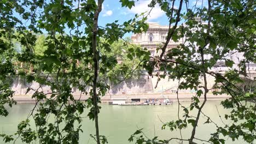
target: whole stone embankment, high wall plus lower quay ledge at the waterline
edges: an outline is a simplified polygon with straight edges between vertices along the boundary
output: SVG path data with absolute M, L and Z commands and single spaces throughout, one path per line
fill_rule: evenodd
M 130 79 L 119 83 L 118 85 L 110 85 L 109 91 L 101 97 L 102 103 L 112 102 L 113 99 L 126 99 L 126 101 L 131 101 L 132 99 L 140 99 L 144 101 L 146 99 L 170 99 L 172 101 L 177 101 L 177 80 L 161 79 L 158 83 L 158 87 L 155 88 L 158 77 L 150 77 L 148 75 L 141 76 L 140 79 Z M 211 76 L 207 77 L 208 88 L 211 88 L 214 84 L 214 79 Z M 31 98 L 34 91 L 29 91 L 26 94 L 27 88 L 38 89 L 39 83 L 32 82 L 27 83 L 26 80 L 20 77 L 10 78 L 9 81 L 12 83 L 11 88 L 15 91 L 14 100 L 18 103 L 35 103 L 36 100 Z M 89 90 L 89 88 L 88 88 Z M 44 93 L 51 93 L 49 86 L 42 86 L 38 91 L 43 91 Z M 208 93 L 208 100 L 223 100 L 229 98 L 228 95 L 213 95 L 213 89 Z M 86 100 L 89 95 L 82 94 L 77 88 L 72 89 L 74 99 Z M 190 101 L 191 97 L 196 94 L 193 89 L 179 89 L 179 100 Z M 199 98 L 203 100 L 203 97 Z

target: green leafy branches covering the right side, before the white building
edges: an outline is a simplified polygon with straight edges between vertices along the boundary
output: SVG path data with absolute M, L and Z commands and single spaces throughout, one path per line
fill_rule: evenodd
M 233 141 L 242 138 L 248 143 L 254 143 L 256 140 L 255 80 L 249 76 L 246 64 L 256 62 L 255 2 L 208 1 L 206 4 L 192 5 L 191 7 L 188 2 L 191 3 L 190 1 L 183 2 L 183 11 L 185 12 L 180 14 L 183 24 L 175 29 L 171 37 L 173 41 L 182 39 L 183 43 L 177 48 L 166 51 L 164 58 L 153 57 L 154 61 L 148 62 L 146 65 L 146 69 L 151 71 L 150 73 L 154 68 L 164 72 L 158 73 L 159 79 L 168 76 L 169 79 L 180 80 L 178 89 L 195 89 L 197 91 L 191 98 L 191 105 L 183 107 L 183 117 L 164 124 L 163 128 L 181 130 L 190 124 L 193 127 L 191 137 L 182 139 L 181 136 L 178 140 L 194 143 L 195 129 L 200 115 L 204 115 L 201 111 L 207 101 L 207 93 L 210 89 L 205 83 L 205 81 L 207 82 L 206 75 L 208 75 L 215 79 L 215 85 L 212 88 L 220 90 L 213 94 L 230 95 L 231 98 L 222 101 L 221 105 L 225 109 L 231 110 L 231 113 L 225 115 L 225 119 L 234 123 L 220 127 L 210 117 L 204 115 L 207 118 L 205 124 L 214 123 L 217 127 L 216 132 L 211 134 L 211 138 L 205 141 L 214 144 L 225 143 L 225 139 L 221 139 L 224 136 L 230 137 Z M 178 11 L 174 9 L 172 14 L 172 3 L 174 2 L 152 1 L 149 6 L 155 7 L 156 4 L 159 4 L 169 18 L 170 24 L 173 25 L 178 19 Z M 169 31 L 171 30 L 172 27 Z M 245 57 L 245 59 L 240 59 L 240 63 L 237 64 L 238 69 L 234 67 L 234 61 L 227 57 L 232 52 L 241 52 Z M 226 67 L 229 67 L 229 71 L 226 71 L 225 74 L 212 71 L 214 65 L 220 61 L 224 61 Z M 204 77 L 206 79 L 202 80 Z M 248 84 L 247 88 L 245 88 L 245 82 Z M 200 101 L 200 97 L 204 97 L 205 100 Z M 254 101 L 254 103 L 250 101 Z M 179 109 L 180 107 L 179 104 Z M 191 116 L 190 111 L 192 110 L 197 110 L 197 116 Z M 137 143 L 154 143 L 153 139 L 147 141 L 144 135 L 139 134 L 141 133 L 133 134 L 129 140 L 133 141 L 133 138 L 136 138 Z

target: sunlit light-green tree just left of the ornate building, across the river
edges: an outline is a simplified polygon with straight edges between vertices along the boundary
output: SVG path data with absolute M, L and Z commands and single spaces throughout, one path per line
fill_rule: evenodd
M 104 52 L 106 56 L 114 57 L 118 62 L 115 67 L 109 70 L 107 76 L 113 85 L 117 85 L 127 79 L 138 79 L 143 70 L 141 66 L 148 59 L 149 53 L 147 55 L 143 54 L 142 47 L 127 43 L 131 43 L 131 40 L 120 39 L 110 46 L 112 51 Z M 142 55 L 136 55 L 136 53 L 142 53 Z

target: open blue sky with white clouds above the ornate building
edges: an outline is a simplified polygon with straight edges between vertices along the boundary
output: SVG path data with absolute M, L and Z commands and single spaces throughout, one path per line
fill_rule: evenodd
M 119 0 L 105 0 L 98 21 L 99 25 L 105 26 L 106 23 L 112 23 L 115 20 L 118 20 L 120 23 L 130 20 L 132 19 L 132 17 L 135 16 L 135 14 L 141 14 L 143 12 L 149 11 L 150 8 L 148 8 L 148 4 L 150 3 L 150 1 L 151 0 L 135 0 L 135 7 L 129 9 L 121 7 L 121 3 L 119 2 Z M 202 2 L 203 5 L 206 4 L 206 0 L 198 0 L 197 5 L 201 5 Z M 195 5 L 195 3 L 196 0 L 190 1 L 189 5 Z M 178 9 L 179 1 L 176 1 L 174 5 Z M 183 5 L 183 8 L 185 8 L 185 5 Z M 161 10 L 159 5 L 156 5 L 156 7 L 153 8 L 148 17 L 148 21 L 158 22 L 160 25 L 168 25 L 168 18 L 165 16 L 164 11 Z M 131 37 L 131 33 L 126 34 L 125 37 Z

